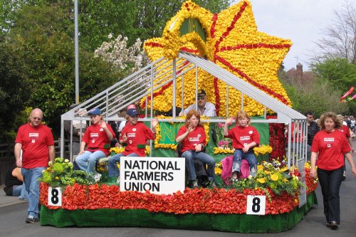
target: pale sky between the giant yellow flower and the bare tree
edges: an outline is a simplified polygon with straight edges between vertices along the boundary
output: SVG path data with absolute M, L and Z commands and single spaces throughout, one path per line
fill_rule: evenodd
M 251 0 L 257 30 L 293 42 L 283 60 L 285 70 L 301 63 L 304 71 L 309 69 L 314 42 L 323 38 L 323 29 L 335 19 L 334 10 L 340 11 L 344 4 L 345 0 Z

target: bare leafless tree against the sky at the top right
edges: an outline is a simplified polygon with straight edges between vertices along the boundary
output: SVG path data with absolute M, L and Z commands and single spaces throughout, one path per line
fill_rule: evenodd
M 312 58 L 320 63 L 326 58 L 345 58 L 356 64 L 356 7 L 355 1 L 345 1 L 340 11 L 334 11 L 333 23 L 325 28 L 325 37 L 315 42 L 318 52 Z

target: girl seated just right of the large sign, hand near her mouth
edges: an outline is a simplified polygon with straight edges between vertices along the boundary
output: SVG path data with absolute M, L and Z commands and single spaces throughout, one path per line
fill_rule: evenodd
M 178 130 L 176 142 L 182 143 L 182 157 L 185 158 L 189 186 L 193 189 L 199 188 L 194 169 L 194 159 L 199 159 L 204 164 L 208 164 L 209 183 L 211 186 L 215 186 L 215 160 L 209 154 L 203 152 L 206 145 L 206 135 L 197 110 L 190 110 L 187 113 L 185 124 Z

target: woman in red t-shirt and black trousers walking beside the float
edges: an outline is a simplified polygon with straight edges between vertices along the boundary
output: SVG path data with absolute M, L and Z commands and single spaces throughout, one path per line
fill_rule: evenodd
M 326 226 L 337 229 L 340 223 L 340 185 L 342 181 L 344 154 L 350 163 L 351 172 L 356 177 L 356 167 L 350 153 L 351 147 L 345 135 L 338 129 L 342 121 L 338 120 L 334 112 L 325 112 L 318 121 L 318 132 L 312 143 L 310 176 L 318 179 L 323 193 L 324 214 Z M 318 157 L 318 160 L 317 160 Z M 318 171 L 315 164 L 318 165 Z

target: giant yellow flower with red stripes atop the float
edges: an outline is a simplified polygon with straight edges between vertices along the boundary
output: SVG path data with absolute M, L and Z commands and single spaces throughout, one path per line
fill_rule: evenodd
M 145 41 L 144 48 L 152 61 L 162 56 L 172 60 L 179 51 L 198 54 L 290 106 L 286 90 L 278 81 L 277 70 L 291 45 L 290 40 L 257 31 L 250 1 L 241 1 L 219 14 L 212 14 L 189 0 L 167 22 L 162 37 Z M 167 65 L 171 62 L 159 65 L 158 69 L 169 70 Z M 195 75 L 195 70 L 184 75 L 184 107 L 195 102 Z M 154 92 L 153 107 L 168 111 L 172 108 L 172 83 L 164 84 L 169 78 L 156 80 L 163 80 L 163 86 Z M 199 69 L 198 86 L 206 91 L 208 100 L 214 102 L 217 114 L 225 116 L 226 84 Z M 180 76 L 175 93 L 177 105 L 182 105 Z M 142 106 L 145 106 L 145 98 Z M 241 93 L 230 88 L 229 114 L 234 115 L 239 110 Z M 244 95 L 244 110 L 250 116 L 263 115 L 264 107 Z

